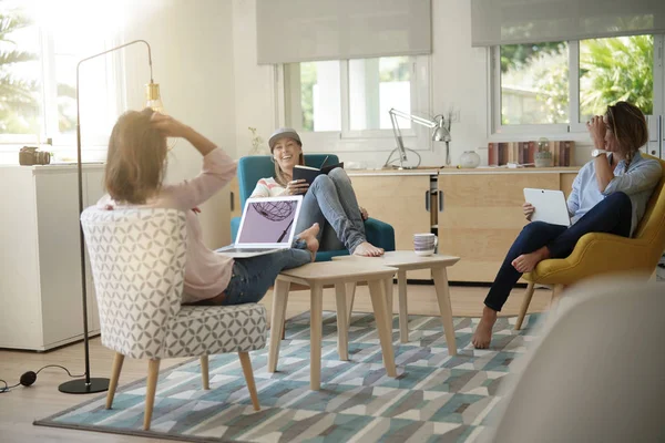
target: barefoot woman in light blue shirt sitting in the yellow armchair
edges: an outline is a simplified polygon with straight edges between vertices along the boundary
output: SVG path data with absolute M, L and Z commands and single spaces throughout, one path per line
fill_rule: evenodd
M 488 348 L 497 312 L 523 272 L 532 271 L 548 258 L 565 258 L 577 240 L 589 233 L 630 237 L 646 210 L 646 204 L 661 178 L 661 164 L 644 158 L 640 147 L 648 140 L 642 111 L 627 102 L 607 106 L 605 115 L 586 123 L 595 150 L 567 198 L 571 226 L 532 222 L 524 226 L 508 251 L 484 300 L 482 318 L 473 334 L 475 348 Z M 523 205 L 528 220 L 533 206 Z

